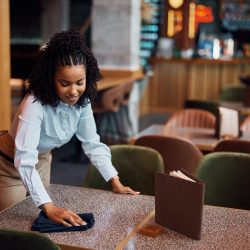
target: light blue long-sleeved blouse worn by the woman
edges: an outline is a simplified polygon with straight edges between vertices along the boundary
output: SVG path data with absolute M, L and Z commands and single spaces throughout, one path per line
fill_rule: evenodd
M 15 167 L 36 206 L 51 202 L 35 168 L 38 154 L 62 146 L 74 134 L 106 181 L 117 175 L 110 150 L 96 133 L 91 104 L 76 108 L 60 102 L 57 107 L 51 107 L 29 95 L 22 101 L 9 133 L 15 140 Z

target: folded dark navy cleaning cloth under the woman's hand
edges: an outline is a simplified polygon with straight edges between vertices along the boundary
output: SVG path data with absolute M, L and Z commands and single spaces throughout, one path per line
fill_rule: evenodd
M 72 232 L 72 231 L 85 231 L 93 227 L 95 223 L 94 215 L 92 213 L 78 214 L 87 224 L 82 226 L 66 227 L 56 222 L 51 221 L 46 214 L 41 211 L 37 219 L 33 223 L 31 230 L 39 231 L 41 233 L 52 232 Z

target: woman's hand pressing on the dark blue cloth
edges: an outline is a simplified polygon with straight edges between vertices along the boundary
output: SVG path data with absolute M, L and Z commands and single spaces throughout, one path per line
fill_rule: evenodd
M 52 202 L 41 205 L 41 209 L 50 220 L 66 227 L 87 224 L 73 211 L 65 208 L 58 208 Z

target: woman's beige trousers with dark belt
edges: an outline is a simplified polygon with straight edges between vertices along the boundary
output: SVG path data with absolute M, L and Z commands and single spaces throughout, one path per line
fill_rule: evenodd
M 0 151 L 13 158 L 14 143 L 7 133 L 0 136 Z M 45 187 L 50 184 L 51 160 L 50 152 L 38 155 L 36 169 Z M 15 166 L 0 156 L 0 211 L 25 199 L 26 193 Z

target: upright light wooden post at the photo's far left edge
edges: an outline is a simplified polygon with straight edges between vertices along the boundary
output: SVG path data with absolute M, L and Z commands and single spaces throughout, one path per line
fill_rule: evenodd
M 10 127 L 10 13 L 9 0 L 0 1 L 0 130 Z

